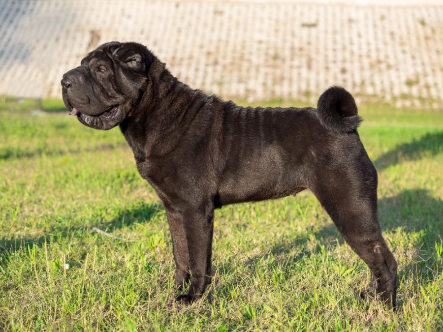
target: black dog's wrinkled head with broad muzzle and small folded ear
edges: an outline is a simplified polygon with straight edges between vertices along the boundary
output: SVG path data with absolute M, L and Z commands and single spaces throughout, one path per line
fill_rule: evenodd
M 127 118 L 148 84 L 153 54 L 137 43 L 109 42 L 63 75 L 63 102 L 83 124 L 108 130 Z

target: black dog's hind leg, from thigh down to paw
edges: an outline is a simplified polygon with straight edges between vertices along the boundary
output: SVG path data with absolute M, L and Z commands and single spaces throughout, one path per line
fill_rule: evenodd
M 350 247 L 369 266 L 370 293 L 380 293 L 384 302 L 395 307 L 397 263 L 381 235 L 377 218 L 377 173 L 372 164 L 363 166 L 360 172 L 341 168 L 328 173 L 327 178 L 321 176 L 311 190 Z

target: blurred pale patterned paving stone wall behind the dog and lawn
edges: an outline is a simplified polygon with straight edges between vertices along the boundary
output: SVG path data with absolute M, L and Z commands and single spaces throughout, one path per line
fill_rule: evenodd
M 119 40 L 224 98 L 315 100 L 341 85 L 443 108 L 443 5 L 397 2 L 1 0 L 0 94 L 60 97 L 63 72 Z

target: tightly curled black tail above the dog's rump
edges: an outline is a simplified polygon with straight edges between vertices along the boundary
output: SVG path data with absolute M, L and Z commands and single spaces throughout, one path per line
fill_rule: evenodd
M 357 105 L 352 95 L 342 87 L 330 87 L 317 103 L 320 123 L 328 130 L 347 133 L 357 129 L 362 119 L 357 115 Z

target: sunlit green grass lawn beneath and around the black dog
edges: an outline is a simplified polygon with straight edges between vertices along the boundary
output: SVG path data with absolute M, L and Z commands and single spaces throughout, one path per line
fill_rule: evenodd
M 443 113 L 360 108 L 399 262 L 392 312 L 358 299 L 368 268 L 309 192 L 217 210 L 214 282 L 174 303 L 166 216 L 120 131 L 22 104 L 0 105 L 1 330 L 442 329 Z

